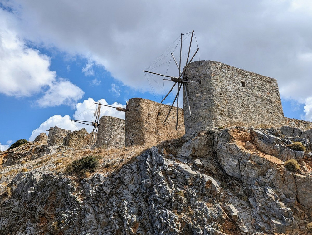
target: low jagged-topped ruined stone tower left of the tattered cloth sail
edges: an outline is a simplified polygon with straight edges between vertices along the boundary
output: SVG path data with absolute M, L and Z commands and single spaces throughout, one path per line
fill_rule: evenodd
M 89 144 L 90 134 L 82 128 L 80 130 L 74 130 L 64 137 L 63 145 L 68 147 L 82 148 Z

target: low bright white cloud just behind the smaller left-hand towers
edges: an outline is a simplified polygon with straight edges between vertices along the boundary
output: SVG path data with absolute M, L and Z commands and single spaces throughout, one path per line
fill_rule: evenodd
M 93 112 L 96 109 L 96 104 L 94 104 L 94 100 L 92 98 L 88 98 L 84 100 L 82 103 L 76 104 L 76 110 L 73 114 L 73 118 L 69 115 L 61 116 L 61 115 L 54 115 L 45 122 L 41 123 L 41 125 L 32 131 L 32 135 L 29 138 L 29 141 L 33 141 L 41 132 L 42 130 L 49 130 L 50 127 L 58 126 L 63 129 L 67 130 L 80 130 L 81 128 L 85 128 L 88 132 L 92 131 L 92 127 L 88 125 L 84 125 L 81 123 L 71 122 L 71 119 L 74 120 L 82 120 L 82 121 L 94 121 Z M 96 101 L 97 102 L 97 101 Z M 110 106 L 119 106 L 125 108 L 126 105 L 122 105 L 118 102 L 114 102 L 113 104 L 108 104 L 105 99 L 100 100 L 101 104 L 110 105 Z M 124 112 L 116 111 L 113 108 L 101 106 L 101 116 L 113 116 L 124 119 Z

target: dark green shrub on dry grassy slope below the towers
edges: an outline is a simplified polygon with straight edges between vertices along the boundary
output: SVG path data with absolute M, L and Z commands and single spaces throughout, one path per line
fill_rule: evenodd
M 78 176 L 79 178 L 83 178 L 87 176 L 87 172 L 95 172 L 98 166 L 99 159 L 97 159 L 95 156 L 86 156 L 69 164 L 66 167 L 64 173 L 67 175 L 73 175 Z

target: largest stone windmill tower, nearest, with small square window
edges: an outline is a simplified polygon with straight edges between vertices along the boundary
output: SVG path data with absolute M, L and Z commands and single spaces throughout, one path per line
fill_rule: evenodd
M 230 125 L 280 126 L 285 120 L 273 78 L 216 61 L 193 62 L 186 75 L 189 81 L 201 82 L 186 83 L 192 117 L 183 93 L 187 134 Z

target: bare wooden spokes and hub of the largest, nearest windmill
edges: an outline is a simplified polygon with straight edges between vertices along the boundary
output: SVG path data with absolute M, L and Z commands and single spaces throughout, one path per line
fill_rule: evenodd
M 174 77 L 174 76 L 168 76 L 168 75 L 163 75 L 163 74 L 159 74 L 159 73 L 154 73 L 154 72 L 150 72 L 150 71 L 145 71 L 143 70 L 143 72 L 147 72 L 147 73 L 152 73 L 152 74 L 156 74 L 156 75 L 159 75 L 159 76 L 164 76 L 164 77 L 169 77 L 170 79 L 163 79 L 163 80 L 168 80 L 168 81 L 173 81 L 174 84 L 172 86 L 172 88 L 170 89 L 170 91 L 168 92 L 168 94 L 163 98 L 163 100 L 160 102 L 160 103 L 163 103 L 163 101 L 167 98 L 167 96 L 171 93 L 171 91 L 173 90 L 174 86 L 178 83 L 178 91 L 177 91 L 177 94 L 173 100 L 173 103 L 170 107 L 170 110 L 167 114 L 167 117 L 165 118 L 164 122 L 166 122 L 171 110 L 172 110 L 172 107 L 174 105 L 174 102 L 177 100 L 177 120 L 176 120 L 176 130 L 178 129 L 178 105 L 179 105 L 179 92 L 181 90 L 181 87 L 183 86 L 183 90 L 185 91 L 185 97 L 186 97 L 186 100 L 187 100 L 187 103 L 188 103 L 188 111 L 189 111 L 189 115 L 192 116 L 192 112 L 191 112 L 191 107 L 190 107 L 190 104 L 189 104 L 189 101 L 188 101 L 188 94 L 187 94 L 187 91 L 186 91 L 186 87 L 185 87 L 185 83 L 189 82 L 189 83 L 198 83 L 196 81 L 188 81 L 188 78 L 187 76 L 185 76 L 185 71 L 186 69 L 188 68 L 188 66 L 190 65 L 190 63 L 192 62 L 194 56 L 197 54 L 197 52 L 199 51 L 199 48 L 198 48 L 198 45 L 197 45 L 197 50 L 196 52 L 194 53 L 194 55 L 192 56 L 192 58 L 190 59 L 190 61 L 188 61 L 189 59 L 189 56 L 190 56 L 190 51 L 191 51 L 191 46 L 192 46 L 192 39 L 193 39 L 193 35 L 194 35 L 194 30 L 192 31 L 192 36 L 191 36 L 191 40 L 190 40 L 190 46 L 189 46 L 189 49 L 188 49 L 188 58 L 186 60 L 186 64 L 184 66 L 184 69 L 183 71 L 181 71 L 181 58 L 182 58 L 182 37 L 183 37 L 183 33 L 181 33 L 181 44 L 180 44 L 180 59 L 179 59 L 179 64 L 177 63 L 176 59 L 174 58 L 173 56 L 173 53 L 171 53 L 171 56 L 176 64 L 176 66 L 178 67 L 178 70 L 179 70 L 179 76 L 178 77 Z

